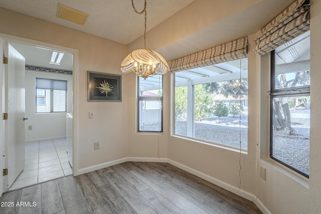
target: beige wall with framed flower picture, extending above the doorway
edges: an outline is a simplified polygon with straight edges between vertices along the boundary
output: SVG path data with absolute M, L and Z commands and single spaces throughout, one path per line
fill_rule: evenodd
M 121 75 L 127 47 L 101 37 L 0 8 L 0 33 L 78 50 L 78 170 L 127 157 L 127 75 L 122 75 L 121 102 L 88 102 L 87 71 Z M 76 74 L 77 73 L 77 74 Z M 89 119 L 94 112 L 94 119 Z M 100 149 L 94 150 L 94 142 Z M 77 169 L 76 169 L 77 170 Z

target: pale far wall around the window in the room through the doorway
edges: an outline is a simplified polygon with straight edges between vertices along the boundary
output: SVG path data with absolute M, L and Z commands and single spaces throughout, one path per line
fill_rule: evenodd
M 66 113 L 72 112 L 72 75 L 26 70 L 25 140 L 66 137 Z M 67 81 L 67 112 L 36 113 L 36 78 Z M 29 130 L 29 126 L 32 129 Z

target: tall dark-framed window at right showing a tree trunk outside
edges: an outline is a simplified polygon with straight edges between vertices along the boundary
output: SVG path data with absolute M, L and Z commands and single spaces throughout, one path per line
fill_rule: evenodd
M 309 176 L 310 32 L 271 53 L 270 157 Z

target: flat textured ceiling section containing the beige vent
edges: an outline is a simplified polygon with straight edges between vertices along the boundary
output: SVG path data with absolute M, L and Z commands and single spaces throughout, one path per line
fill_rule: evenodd
M 162 23 L 194 0 L 148 0 L 147 31 Z M 58 3 L 89 14 L 85 25 L 56 17 Z M 138 12 L 144 0 L 134 0 Z M 122 44 L 144 33 L 144 15 L 136 14 L 131 0 L 0 0 L 0 7 Z

